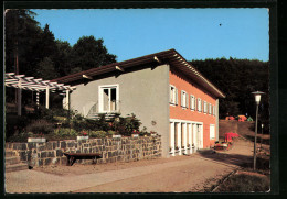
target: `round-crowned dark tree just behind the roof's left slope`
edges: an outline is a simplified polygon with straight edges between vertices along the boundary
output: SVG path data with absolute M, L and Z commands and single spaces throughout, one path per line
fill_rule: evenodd
M 83 36 L 73 46 L 71 53 L 71 73 L 77 73 L 105 66 L 116 62 L 116 55 L 109 54 L 103 45 L 103 38 Z

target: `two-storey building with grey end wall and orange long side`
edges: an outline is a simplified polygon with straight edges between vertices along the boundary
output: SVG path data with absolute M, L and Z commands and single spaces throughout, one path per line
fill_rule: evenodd
M 84 117 L 135 113 L 142 126 L 161 135 L 164 157 L 190 154 L 219 140 L 219 98 L 225 96 L 176 49 L 53 81 L 76 86 L 66 98 Z

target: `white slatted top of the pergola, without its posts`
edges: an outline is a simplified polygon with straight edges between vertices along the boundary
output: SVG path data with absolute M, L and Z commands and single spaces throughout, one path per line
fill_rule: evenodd
M 6 73 L 4 84 L 7 87 L 22 88 L 24 90 L 44 91 L 50 90 L 74 90 L 76 87 L 71 87 L 64 84 L 57 84 L 50 80 L 35 79 L 34 77 L 25 77 L 24 75 L 15 75 L 14 73 Z

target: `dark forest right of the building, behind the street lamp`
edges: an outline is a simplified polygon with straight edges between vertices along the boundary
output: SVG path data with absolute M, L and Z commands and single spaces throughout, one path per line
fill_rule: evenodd
M 255 118 L 255 100 L 251 92 L 259 90 L 266 93 L 262 97 L 261 118 L 268 122 L 268 62 L 217 58 L 190 63 L 226 95 L 225 99 L 220 99 L 220 118 L 246 113 L 247 118 Z

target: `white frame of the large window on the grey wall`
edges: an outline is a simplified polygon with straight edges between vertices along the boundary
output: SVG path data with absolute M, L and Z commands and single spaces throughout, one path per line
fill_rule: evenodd
M 116 85 L 100 85 L 100 86 L 98 86 L 98 112 L 99 113 L 118 111 L 118 108 L 117 108 L 116 111 L 111 111 L 110 110 L 110 103 L 109 103 L 108 110 L 104 110 L 104 100 L 103 100 L 104 89 L 109 89 L 110 90 L 111 88 L 116 88 L 116 102 L 118 102 L 119 101 L 119 85 L 118 84 L 116 84 Z

